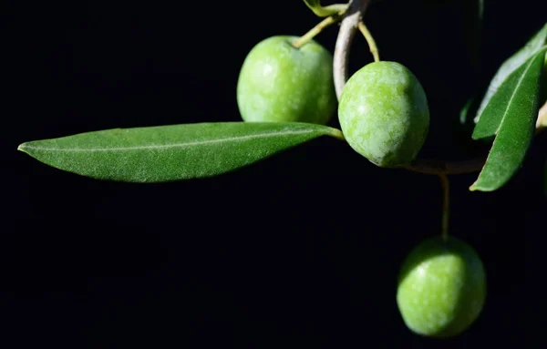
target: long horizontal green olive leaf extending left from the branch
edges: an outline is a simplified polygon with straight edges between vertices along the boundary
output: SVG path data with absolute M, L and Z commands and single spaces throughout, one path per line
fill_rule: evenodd
M 150 183 L 220 175 L 320 136 L 344 139 L 339 129 L 308 123 L 220 122 L 100 130 L 18 149 L 78 175 Z

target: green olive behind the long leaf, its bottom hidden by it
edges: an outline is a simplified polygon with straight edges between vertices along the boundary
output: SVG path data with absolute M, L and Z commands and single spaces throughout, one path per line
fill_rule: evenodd
M 272 36 L 249 52 L 237 83 L 245 121 L 297 121 L 325 125 L 335 113 L 333 56 L 314 40 Z

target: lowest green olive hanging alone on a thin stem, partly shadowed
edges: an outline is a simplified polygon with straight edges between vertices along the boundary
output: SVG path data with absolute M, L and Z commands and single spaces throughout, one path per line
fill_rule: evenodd
M 416 334 L 438 338 L 461 334 L 479 317 L 485 299 L 483 264 L 464 241 L 429 238 L 403 263 L 397 306 Z

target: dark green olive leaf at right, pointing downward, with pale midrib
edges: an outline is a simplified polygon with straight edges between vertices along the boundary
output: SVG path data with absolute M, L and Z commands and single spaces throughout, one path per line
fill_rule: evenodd
M 470 190 L 500 189 L 520 169 L 540 108 L 540 79 L 547 46 L 513 71 L 490 98 L 472 139 L 495 135 L 479 178 Z

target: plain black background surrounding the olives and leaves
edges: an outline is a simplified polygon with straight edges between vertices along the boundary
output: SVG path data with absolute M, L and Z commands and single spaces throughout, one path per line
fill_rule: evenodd
M 542 1 L 487 1 L 477 68 L 468 3 L 384 0 L 366 13 L 382 59 L 409 67 L 428 93 L 424 157 L 470 156 L 459 108 L 547 13 Z M 155 185 L 90 180 L 15 150 L 104 128 L 239 120 L 248 51 L 318 21 L 295 0 L 5 7 L 0 346 L 536 347 L 545 135 L 501 190 L 470 192 L 476 174 L 451 178 L 451 233 L 479 251 L 489 296 L 470 330 L 443 342 L 411 334 L 395 303 L 400 262 L 440 231 L 434 176 L 377 169 L 336 139 Z M 316 40 L 332 51 L 335 36 L 333 26 Z M 352 71 L 371 59 L 356 36 Z

